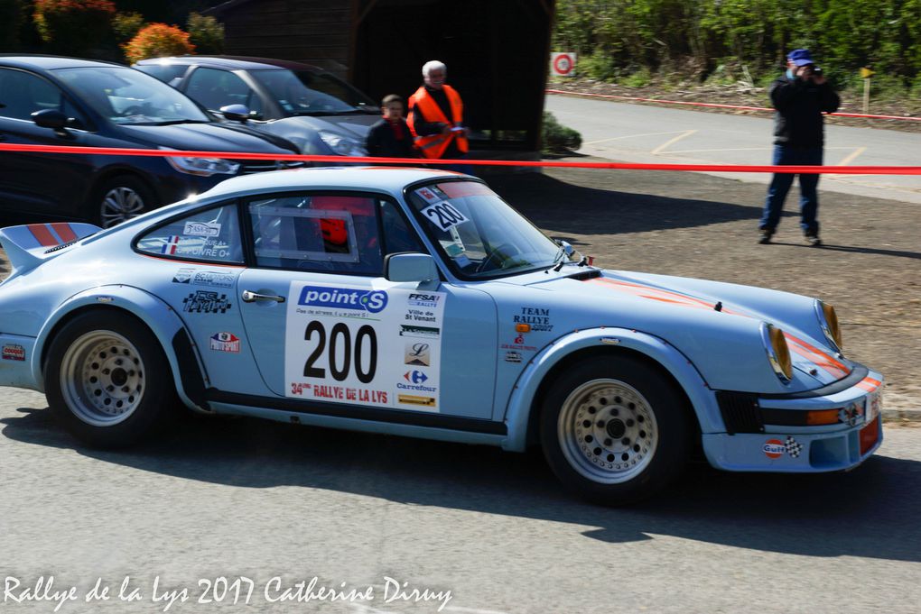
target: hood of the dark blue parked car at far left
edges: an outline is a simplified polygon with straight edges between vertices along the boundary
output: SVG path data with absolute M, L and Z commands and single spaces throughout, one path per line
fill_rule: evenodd
M 175 126 L 121 126 L 123 133 L 142 142 L 172 149 L 208 152 L 292 153 L 285 139 L 243 126 L 218 123 Z

